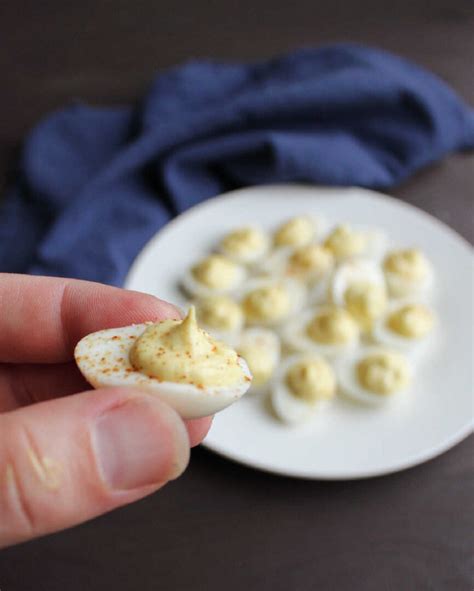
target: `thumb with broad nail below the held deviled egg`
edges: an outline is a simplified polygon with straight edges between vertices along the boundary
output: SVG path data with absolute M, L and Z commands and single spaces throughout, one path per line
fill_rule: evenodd
M 144 497 L 188 461 L 181 418 L 138 390 L 94 390 L 0 415 L 0 547 Z

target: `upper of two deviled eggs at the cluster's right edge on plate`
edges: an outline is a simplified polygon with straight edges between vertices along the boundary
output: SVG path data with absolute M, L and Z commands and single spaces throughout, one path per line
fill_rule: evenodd
M 424 296 L 433 284 L 433 267 L 417 248 L 388 253 L 383 270 L 388 290 L 394 298 Z

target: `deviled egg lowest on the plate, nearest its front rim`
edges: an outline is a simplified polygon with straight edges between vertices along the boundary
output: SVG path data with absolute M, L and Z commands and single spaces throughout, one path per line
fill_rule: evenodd
M 298 424 L 336 395 L 336 376 L 329 363 L 319 355 L 289 357 L 275 374 L 272 405 L 285 423 Z

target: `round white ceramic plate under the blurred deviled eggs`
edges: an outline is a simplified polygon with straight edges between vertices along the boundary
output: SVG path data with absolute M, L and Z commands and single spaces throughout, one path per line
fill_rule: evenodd
M 247 396 L 219 413 L 204 445 L 262 470 L 301 478 L 349 479 L 395 472 L 452 447 L 472 429 L 472 252 L 435 218 L 363 189 L 266 186 L 234 191 L 188 210 L 135 260 L 126 285 L 183 303 L 181 272 L 239 224 L 274 227 L 300 213 L 384 229 L 395 243 L 419 246 L 436 269 L 440 328 L 409 396 L 390 408 L 338 400 L 311 425 L 289 428 Z

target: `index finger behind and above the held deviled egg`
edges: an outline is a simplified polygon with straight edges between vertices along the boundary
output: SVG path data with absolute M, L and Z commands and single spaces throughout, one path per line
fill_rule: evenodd
M 0 273 L 0 361 L 61 363 L 86 334 L 178 318 L 151 295 L 100 283 Z

